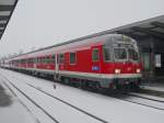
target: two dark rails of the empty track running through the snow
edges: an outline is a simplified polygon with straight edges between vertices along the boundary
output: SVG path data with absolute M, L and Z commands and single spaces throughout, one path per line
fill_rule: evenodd
M 2 76 L 2 75 L 1 75 L 1 76 Z M 45 114 L 47 114 L 55 123 L 60 123 L 57 119 L 55 119 L 51 114 L 49 114 L 45 109 L 43 109 L 39 104 L 37 104 L 37 102 L 35 102 L 32 98 L 30 98 L 25 92 L 23 92 L 23 91 L 22 91 L 21 89 L 19 89 L 15 85 L 13 85 L 7 77 L 3 76 L 3 78 L 5 78 L 5 80 L 7 80 L 8 82 L 10 82 L 10 85 L 12 85 L 12 87 L 14 87 L 19 92 L 21 92 L 24 97 L 26 97 L 31 102 L 33 102 L 37 108 L 39 108 Z M 62 100 L 62 99 L 59 99 L 59 98 L 57 98 L 57 97 L 55 97 L 55 96 L 51 96 L 50 93 L 48 93 L 48 92 L 46 92 L 46 91 L 44 91 L 44 90 L 42 90 L 42 89 L 39 89 L 39 88 L 36 88 L 36 87 L 34 87 L 34 86 L 32 86 L 32 85 L 30 85 L 30 83 L 26 83 L 26 85 L 27 85 L 28 87 L 31 87 L 31 88 L 34 88 L 35 90 L 37 90 L 37 91 L 39 91 L 39 92 L 45 93 L 45 94 L 48 96 L 48 97 L 51 97 L 52 99 L 55 99 L 55 100 L 57 100 L 57 101 L 60 101 L 60 102 L 63 103 L 63 104 L 67 104 L 67 105 L 71 107 L 71 108 L 73 108 L 74 110 L 77 110 L 77 111 L 79 111 L 79 112 L 81 112 L 81 113 L 83 113 L 83 114 L 86 114 L 87 116 L 90 116 L 90 118 L 92 118 L 92 119 L 95 119 L 95 120 L 97 120 L 97 121 L 99 121 L 99 122 L 102 122 L 102 123 L 109 123 L 109 122 L 107 122 L 107 121 L 105 121 L 105 120 L 103 120 L 103 119 L 101 119 L 101 118 L 98 118 L 98 116 L 96 116 L 96 115 L 94 115 L 94 114 L 92 114 L 92 113 L 90 113 L 90 112 L 87 112 L 87 111 L 84 111 L 84 110 L 82 110 L 82 109 L 80 109 L 80 108 L 78 108 L 78 107 L 75 107 L 75 105 L 73 105 L 73 104 L 71 104 L 71 103 L 69 103 L 69 102 Z

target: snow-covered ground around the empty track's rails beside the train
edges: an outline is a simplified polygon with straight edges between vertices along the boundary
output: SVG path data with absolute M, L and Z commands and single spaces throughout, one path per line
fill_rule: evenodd
M 33 85 L 109 123 L 164 123 L 164 111 L 162 110 L 84 91 L 10 70 L 0 69 L 0 74 L 5 76 L 13 85 L 35 100 L 61 123 L 96 123 L 99 121 L 46 96 L 26 83 Z M 3 78 L 2 76 L 0 77 Z M 7 83 L 10 85 L 9 81 L 7 81 Z M 54 83 L 57 86 L 56 89 L 52 87 Z M 38 113 L 40 111 L 37 113 L 35 108 L 32 107 L 25 97 L 21 96 L 11 85 L 10 87 L 19 94 L 22 101 L 33 111 L 39 121 L 43 123 L 50 122 L 45 120 L 46 115 L 39 115 Z

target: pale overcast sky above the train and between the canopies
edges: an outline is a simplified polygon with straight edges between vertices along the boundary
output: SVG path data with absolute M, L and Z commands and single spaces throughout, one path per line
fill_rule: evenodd
M 19 0 L 0 56 L 164 14 L 164 0 Z

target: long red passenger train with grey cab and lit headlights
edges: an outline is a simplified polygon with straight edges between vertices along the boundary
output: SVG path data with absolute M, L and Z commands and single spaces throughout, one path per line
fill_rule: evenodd
M 7 59 L 4 64 L 10 69 L 54 76 L 55 80 L 79 87 L 122 89 L 138 88 L 141 82 L 137 42 L 121 34 L 79 38 Z

